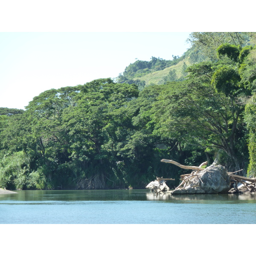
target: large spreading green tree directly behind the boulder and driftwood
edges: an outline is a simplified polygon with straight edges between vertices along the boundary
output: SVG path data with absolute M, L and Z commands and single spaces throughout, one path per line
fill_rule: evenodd
M 235 96 L 216 90 L 212 78 L 219 68 L 210 62 L 189 67 L 189 79 L 170 84 L 155 102 L 152 116 L 157 120 L 159 133 L 206 153 L 221 149 L 229 158 L 229 169 L 237 170 L 244 167 L 239 161 L 244 152 L 240 137 L 243 105 Z

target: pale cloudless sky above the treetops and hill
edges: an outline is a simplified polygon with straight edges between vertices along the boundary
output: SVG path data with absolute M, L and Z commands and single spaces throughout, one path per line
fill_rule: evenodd
M 183 55 L 190 32 L 0 32 L 0 107 L 51 88 L 115 78 L 130 63 Z

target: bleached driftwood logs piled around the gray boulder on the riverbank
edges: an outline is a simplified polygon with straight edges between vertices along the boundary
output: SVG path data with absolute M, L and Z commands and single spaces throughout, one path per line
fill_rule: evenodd
M 173 160 L 162 159 L 161 162 L 172 163 L 182 169 L 191 169 L 190 174 L 180 175 L 181 183 L 171 194 L 208 194 L 208 193 L 244 193 L 256 192 L 256 178 L 247 178 L 235 173 L 227 172 L 224 166 L 213 163 L 211 166 L 204 168 L 207 162 L 200 166 L 183 166 Z M 163 177 L 157 177 L 157 180 L 152 181 L 146 186 L 156 194 L 169 191 Z

